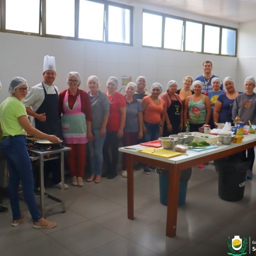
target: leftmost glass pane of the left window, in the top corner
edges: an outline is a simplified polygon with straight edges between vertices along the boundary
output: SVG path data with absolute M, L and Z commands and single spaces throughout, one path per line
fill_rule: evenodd
M 40 0 L 6 0 L 6 29 L 39 33 Z

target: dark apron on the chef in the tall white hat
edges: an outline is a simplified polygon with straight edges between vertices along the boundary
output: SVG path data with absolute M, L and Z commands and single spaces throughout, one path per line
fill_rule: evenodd
M 46 134 L 55 135 L 58 138 L 62 138 L 62 128 L 61 122 L 59 120 L 59 95 L 56 91 L 56 94 L 47 94 L 44 88 L 43 82 L 43 91 L 44 91 L 44 100 L 41 106 L 36 111 L 37 114 L 45 113 L 46 121 L 41 122 L 35 118 L 36 128 Z M 54 85 L 52 85 L 54 86 Z

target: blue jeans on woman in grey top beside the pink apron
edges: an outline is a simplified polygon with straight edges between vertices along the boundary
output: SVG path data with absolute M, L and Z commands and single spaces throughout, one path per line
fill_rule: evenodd
M 103 165 L 102 148 L 106 134 L 100 137 L 100 128 L 91 130 L 94 140 L 88 141 L 87 146 L 90 155 L 91 174 L 101 175 Z

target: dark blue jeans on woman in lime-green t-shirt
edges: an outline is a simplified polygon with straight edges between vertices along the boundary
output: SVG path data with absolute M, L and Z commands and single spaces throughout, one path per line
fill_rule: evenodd
M 33 221 L 42 218 L 34 196 L 34 178 L 31 162 L 26 149 L 26 136 L 16 135 L 3 137 L 1 147 L 6 157 L 9 171 L 9 198 L 13 220 L 21 218 L 19 205 L 19 184 L 22 183 L 24 199 Z

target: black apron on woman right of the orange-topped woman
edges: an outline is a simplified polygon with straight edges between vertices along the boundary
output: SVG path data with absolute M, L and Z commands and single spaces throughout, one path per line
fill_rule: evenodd
M 168 93 L 170 99 L 171 96 Z M 174 94 L 175 98 L 177 99 L 176 95 Z M 163 137 L 168 137 L 172 134 L 178 134 L 180 132 L 180 111 L 181 111 L 181 103 L 177 99 L 176 101 L 171 100 L 171 105 L 167 109 L 167 114 L 172 126 L 171 132 L 167 130 L 167 124 L 164 123 L 164 130 L 163 130 Z

